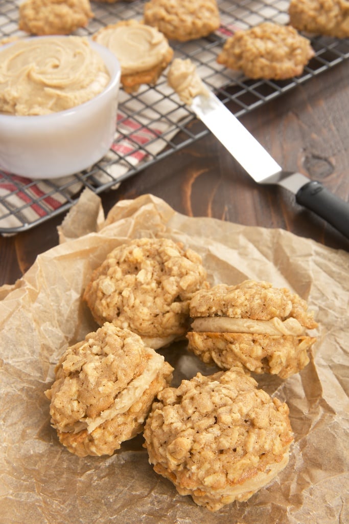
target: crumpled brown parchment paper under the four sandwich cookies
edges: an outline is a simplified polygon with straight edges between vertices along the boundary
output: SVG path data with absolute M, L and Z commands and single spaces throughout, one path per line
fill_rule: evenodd
M 152 195 L 119 202 L 99 231 L 90 224 L 85 231 L 96 231 L 65 241 L 78 234 L 69 222 L 59 246 L 39 255 L 15 286 L 0 289 L 1 524 L 349 522 L 349 254 L 283 230 L 187 217 Z M 301 373 L 285 381 L 256 377 L 290 408 L 295 442 L 288 466 L 246 503 L 215 513 L 153 472 L 141 435 L 111 457 L 79 459 L 50 427 L 43 392 L 54 365 L 67 345 L 96 329 L 81 301 L 91 271 L 115 246 L 150 235 L 195 249 L 212 284 L 252 278 L 289 287 L 319 322 L 311 362 Z M 212 372 L 187 353 L 185 342 L 163 353 L 176 368 L 175 384 L 197 370 Z

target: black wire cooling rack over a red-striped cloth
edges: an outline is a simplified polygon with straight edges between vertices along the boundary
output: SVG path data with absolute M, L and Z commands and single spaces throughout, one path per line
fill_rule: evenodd
M 20 1 L 1 0 L 0 39 L 25 36 L 18 29 Z M 91 2 L 95 16 L 87 28 L 75 34 L 90 36 L 120 19 L 140 20 L 144 3 L 144 0 L 114 4 Z M 225 39 L 234 30 L 266 20 L 287 24 L 288 5 L 285 0 L 218 0 L 220 29 L 204 39 L 184 43 L 171 41 L 174 56 L 190 58 L 201 79 L 224 104 L 229 103 L 235 116 L 241 117 L 349 57 L 348 39 L 316 37 L 311 39 L 315 56 L 297 78 L 250 80 L 217 63 Z M 207 128 L 168 87 L 165 74 L 156 86 L 142 85 L 136 94 L 129 95 L 121 90 L 114 144 L 109 154 L 91 169 L 55 180 L 29 180 L 0 170 L 0 233 L 27 230 L 68 210 L 84 188 L 96 194 L 115 188 L 126 178 L 207 133 Z

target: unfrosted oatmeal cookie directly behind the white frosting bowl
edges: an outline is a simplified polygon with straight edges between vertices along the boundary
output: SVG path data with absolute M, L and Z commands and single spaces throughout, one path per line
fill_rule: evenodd
M 89 0 L 25 0 L 18 25 L 32 35 L 69 35 L 93 16 Z

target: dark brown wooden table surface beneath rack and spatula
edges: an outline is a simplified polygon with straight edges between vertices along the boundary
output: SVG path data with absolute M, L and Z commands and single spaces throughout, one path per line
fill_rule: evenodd
M 284 169 L 319 180 L 349 200 L 349 62 L 243 116 L 241 122 Z M 349 241 L 276 185 L 256 184 L 211 134 L 101 195 L 105 212 L 121 199 L 152 193 L 189 216 L 280 227 L 335 249 Z M 0 237 L 0 285 L 14 283 L 39 253 L 58 243 L 64 215 Z M 204 234 L 204 232 L 203 232 Z

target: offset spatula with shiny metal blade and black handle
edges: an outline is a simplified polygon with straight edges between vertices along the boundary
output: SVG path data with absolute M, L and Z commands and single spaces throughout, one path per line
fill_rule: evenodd
M 256 182 L 288 189 L 296 195 L 298 204 L 349 238 L 348 202 L 320 182 L 311 181 L 301 173 L 284 171 L 213 93 L 195 96 L 190 107 Z

